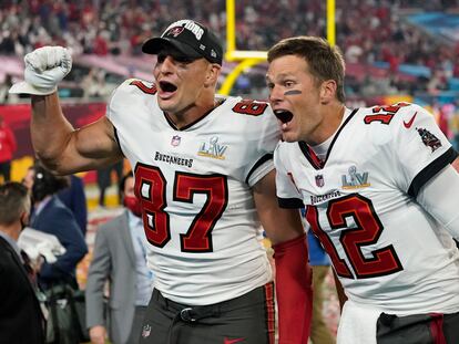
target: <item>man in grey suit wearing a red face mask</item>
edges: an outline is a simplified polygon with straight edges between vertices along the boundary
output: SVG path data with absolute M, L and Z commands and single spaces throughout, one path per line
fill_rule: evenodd
M 125 211 L 98 230 L 86 283 L 86 325 L 92 343 L 105 343 L 106 330 L 114 344 L 137 343 L 153 281 L 146 267 L 145 244 L 134 196 L 132 173 L 120 183 Z M 110 326 L 103 312 L 104 284 L 110 283 Z

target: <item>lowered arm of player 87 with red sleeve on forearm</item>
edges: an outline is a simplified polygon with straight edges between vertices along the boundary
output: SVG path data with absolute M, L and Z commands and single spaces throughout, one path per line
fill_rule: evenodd
M 312 271 L 298 209 L 278 207 L 275 171 L 253 188 L 262 225 L 274 243 L 279 344 L 307 343 L 312 319 Z

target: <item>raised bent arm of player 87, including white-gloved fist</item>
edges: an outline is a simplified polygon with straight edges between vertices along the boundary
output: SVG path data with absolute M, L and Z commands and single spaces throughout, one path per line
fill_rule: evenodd
M 57 85 L 72 67 L 69 51 L 43 46 L 27 54 L 24 63 L 26 81 L 10 93 L 32 95 L 32 144 L 42 163 L 59 174 L 71 174 L 119 160 L 122 154 L 106 118 L 75 131 L 63 116 Z

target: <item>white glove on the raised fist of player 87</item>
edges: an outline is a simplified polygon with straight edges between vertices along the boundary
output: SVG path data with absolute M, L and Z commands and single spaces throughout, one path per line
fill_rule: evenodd
M 43 46 L 24 58 L 23 82 L 11 86 L 9 93 L 47 95 L 54 93 L 58 83 L 72 69 L 72 56 L 62 46 Z

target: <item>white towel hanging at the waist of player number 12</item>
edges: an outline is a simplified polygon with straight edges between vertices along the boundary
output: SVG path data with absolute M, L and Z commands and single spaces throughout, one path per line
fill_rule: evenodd
M 376 344 L 376 322 L 380 310 L 345 302 L 339 320 L 337 344 Z

